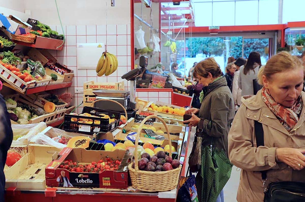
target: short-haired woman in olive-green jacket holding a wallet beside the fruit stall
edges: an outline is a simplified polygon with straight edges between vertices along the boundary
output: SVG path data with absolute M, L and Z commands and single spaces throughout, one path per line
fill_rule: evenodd
M 186 114 L 191 114 L 192 118 L 184 123 L 189 122 L 189 126 L 197 126 L 193 149 L 197 142 L 196 139 L 200 137 L 202 138 L 202 146 L 210 146 L 212 144 L 219 151 L 224 151 L 227 156 L 228 132 L 235 112 L 233 97 L 226 78 L 221 76 L 221 69 L 212 58 L 206 58 L 199 62 L 194 69 L 193 76 L 198 79 L 199 84 L 204 86 L 204 97 L 201 98 L 200 109 L 191 108 L 185 112 Z M 193 149 L 192 152 L 194 152 Z M 190 156 L 198 155 L 192 152 Z M 204 168 L 201 166 L 201 169 Z M 200 193 L 205 191 L 202 189 L 203 180 L 207 179 L 202 178 L 199 170 L 196 176 L 199 201 L 202 201 Z M 218 183 L 216 182 L 216 184 Z M 217 198 L 218 201 L 224 201 L 223 190 Z

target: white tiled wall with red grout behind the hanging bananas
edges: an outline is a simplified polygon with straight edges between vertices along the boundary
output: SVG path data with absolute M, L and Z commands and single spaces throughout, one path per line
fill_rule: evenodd
M 59 34 L 62 33 L 60 26 L 51 26 Z M 74 70 L 72 86 L 59 89 L 58 93 L 70 92 L 75 97 L 72 100 L 74 106 L 78 106 L 83 101 L 83 94 L 74 94 L 75 87 L 83 87 L 83 83 L 89 80 L 94 82 L 117 82 L 121 81 L 121 76 L 131 70 L 131 46 L 130 46 L 130 24 L 118 25 L 67 25 L 63 26 L 66 41 L 63 50 L 50 51 L 59 63 L 67 65 Z M 110 76 L 98 77 L 94 69 L 77 69 L 77 43 L 105 43 L 106 50 L 117 56 L 118 69 Z M 130 82 L 124 81 L 125 89 L 130 89 Z M 82 105 L 78 108 L 80 113 Z M 77 112 L 77 113 L 78 113 Z

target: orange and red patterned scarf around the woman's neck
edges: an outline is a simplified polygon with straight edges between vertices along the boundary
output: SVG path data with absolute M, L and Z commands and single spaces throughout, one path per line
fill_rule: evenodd
M 296 99 L 296 102 L 292 105 L 292 107 L 286 108 L 274 101 L 269 90 L 263 87 L 262 99 L 273 114 L 278 118 L 284 128 L 286 128 L 288 132 L 291 131 L 291 129 L 299 121 L 299 116 L 303 105 L 301 95 Z

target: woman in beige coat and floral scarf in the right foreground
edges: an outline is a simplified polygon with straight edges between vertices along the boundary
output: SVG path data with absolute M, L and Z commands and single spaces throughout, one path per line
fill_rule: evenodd
M 228 134 L 231 163 L 241 168 L 237 200 L 260 202 L 267 183 L 305 181 L 305 93 L 303 67 L 287 52 L 272 56 L 260 68 L 264 87 L 255 96 L 242 98 Z M 257 147 L 254 121 L 262 124 L 264 146 Z

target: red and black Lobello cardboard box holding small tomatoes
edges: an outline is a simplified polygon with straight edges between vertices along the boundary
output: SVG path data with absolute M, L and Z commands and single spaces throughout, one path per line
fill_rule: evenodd
M 98 162 L 105 157 L 122 159 L 122 163 L 117 171 L 104 170 L 100 173 L 77 173 L 59 168 L 59 165 L 65 159 L 79 163 L 91 163 L 92 161 Z M 59 187 L 59 182 L 56 180 L 58 176 L 62 176 L 68 180 L 68 182 L 63 183 L 63 186 L 126 189 L 128 187 L 127 167 L 130 163 L 129 159 L 131 159 L 131 156 L 128 150 L 115 150 L 111 152 L 66 147 L 59 152 L 58 158 L 49 163 L 45 168 L 45 184 L 50 187 Z

